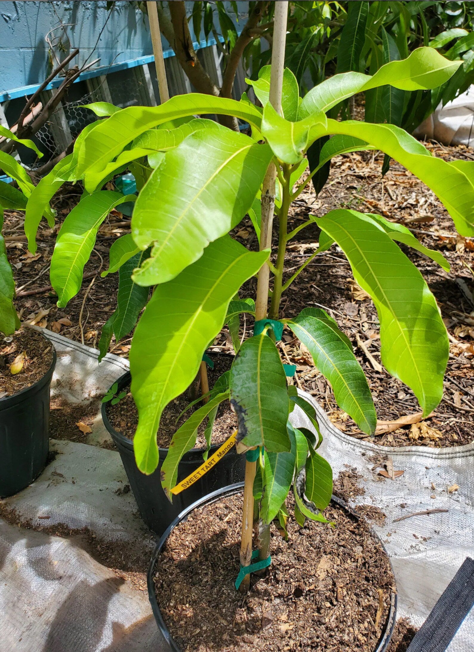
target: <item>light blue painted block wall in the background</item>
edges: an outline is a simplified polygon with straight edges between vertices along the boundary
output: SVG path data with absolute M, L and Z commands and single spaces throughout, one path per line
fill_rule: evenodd
M 193 3 L 186 5 L 190 14 Z M 237 5 L 239 15 L 246 15 L 248 3 Z M 3 95 L 0 101 L 7 98 L 8 91 L 44 81 L 51 70 L 45 37 L 61 24 L 68 25 L 65 31 L 56 29 L 50 36 L 61 36 L 67 50 L 80 48 L 80 55 L 72 61 L 74 65 L 81 65 L 88 57 L 88 61 L 100 57 L 95 68 L 103 69 L 153 55 L 148 18 L 140 9 L 126 1 L 117 1 L 106 23 L 108 13 L 104 1 L 0 1 L 0 96 Z M 163 47 L 169 48 L 165 39 Z M 19 95 L 17 92 L 12 96 Z

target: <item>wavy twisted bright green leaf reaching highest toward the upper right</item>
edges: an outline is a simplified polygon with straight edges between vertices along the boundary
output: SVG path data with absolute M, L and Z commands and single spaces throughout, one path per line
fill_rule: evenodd
M 347 72 L 321 82 L 304 96 L 298 116 L 303 119 L 317 111 L 329 111 L 351 95 L 385 84 L 403 91 L 436 88 L 447 82 L 460 65 L 460 61 L 449 61 L 433 48 L 418 48 L 407 59 L 386 63 L 372 77 Z

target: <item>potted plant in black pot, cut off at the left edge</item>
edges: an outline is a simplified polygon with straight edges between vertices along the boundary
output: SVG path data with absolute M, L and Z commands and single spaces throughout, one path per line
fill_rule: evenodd
M 18 140 L 5 127 L 0 135 Z M 21 142 L 41 155 L 31 140 Z M 1 235 L 3 210 L 24 210 L 34 186 L 13 156 L 1 151 L 0 167 L 21 188 L 0 181 L 0 497 L 5 497 L 31 484 L 46 464 L 56 353 L 42 334 L 20 328 L 13 305 L 15 284 Z M 43 212 L 52 218 L 49 206 Z

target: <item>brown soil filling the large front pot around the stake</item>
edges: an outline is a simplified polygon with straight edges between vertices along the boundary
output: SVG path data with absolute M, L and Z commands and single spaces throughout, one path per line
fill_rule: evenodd
M 394 577 L 368 526 L 333 505 L 325 516 L 336 527 L 301 529 L 290 517 L 288 542 L 274 530 L 270 570 L 252 575 L 243 596 L 234 587 L 242 502 L 237 494 L 192 512 L 160 556 L 156 597 L 181 650 L 373 652 Z

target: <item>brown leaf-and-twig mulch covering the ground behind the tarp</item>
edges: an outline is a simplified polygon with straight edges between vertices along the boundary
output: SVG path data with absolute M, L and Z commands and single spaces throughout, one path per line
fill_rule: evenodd
M 474 159 L 471 149 L 462 145 L 444 147 L 428 142 L 426 146 L 435 156 L 445 160 Z M 329 383 L 314 368 L 308 351 L 288 331 L 280 343 L 282 357 L 297 364 L 298 385 L 310 392 L 325 408 L 331 421 L 347 434 L 387 446 L 463 445 L 474 440 L 474 239 L 456 234 L 451 218 L 436 196 L 402 166 L 392 162 L 389 172 L 382 177 L 382 162 L 383 156 L 379 153 L 350 153 L 334 158 L 329 180 L 318 198 L 311 187 L 293 202 L 289 228 L 299 226 L 308 215 L 321 216 L 339 207 L 378 213 L 404 224 L 422 244 L 440 251 L 448 259 L 451 271 L 446 273 L 422 254 L 402 246 L 434 293 L 449 333 L 450 357 L 441 404 L 424 421 L 391 431 L 389 428 L 388 432 L 385 428 L 385 432 L 378 431 L 376 436 L 367 437 L 338 408 Z M 48 268 L 55 235 L 79 197 L 79 185 L 65 185 L 55 196 L 53 207 L 58 211 L 57 225 L 50 229 L 46 222 L 41 223 L 35 256 L 27 252 L 22 213 L 5 211 L 3 233 L 16 278 L 18 297 L 15 304 L 22 319 L 36 321 L 96 347 L 102 325 L 115 309 L 117 290 L 117 274 L 100 278 L 100 271 L 108 266 L 111 243 L 129 232 L 130 220 L 119 211 L 111 212 L 98 232 L 80 293 L 66 308 L 57 308 L 55 294 L 48 285 Z M 277 231 L 275 227 L 274 245 Z M 248 218 L 241 222 L 234 235 L 249 248 L 258 246 Z M 289 243 L 286 278 L 314 252 L 318 239 L 318 227 L 312 224 L 299 231 Z M 252 279 L 242 295 L 254 297 L 255 288 L 256 280 Z M 368 378 L 380 420 L 394 421 L 419 413 L 413 392 L 379 366 L 379 321 L 374 304 L 355 284 L 350 265 L 336 245 L 309 263 L 284 293 L 281 316 L 295 316 L 306 306 L 325 308 L 348 334 Z M 251 329 L 252 319 L 246 316 L 242 319 L 241 334 L 246 336 Z M 110 350 L 127 356 L 130 340 L 128 335 L 121 342 L 112 342 Z M 232 350 L 226 327 L 216 338 L 214 349 Z

